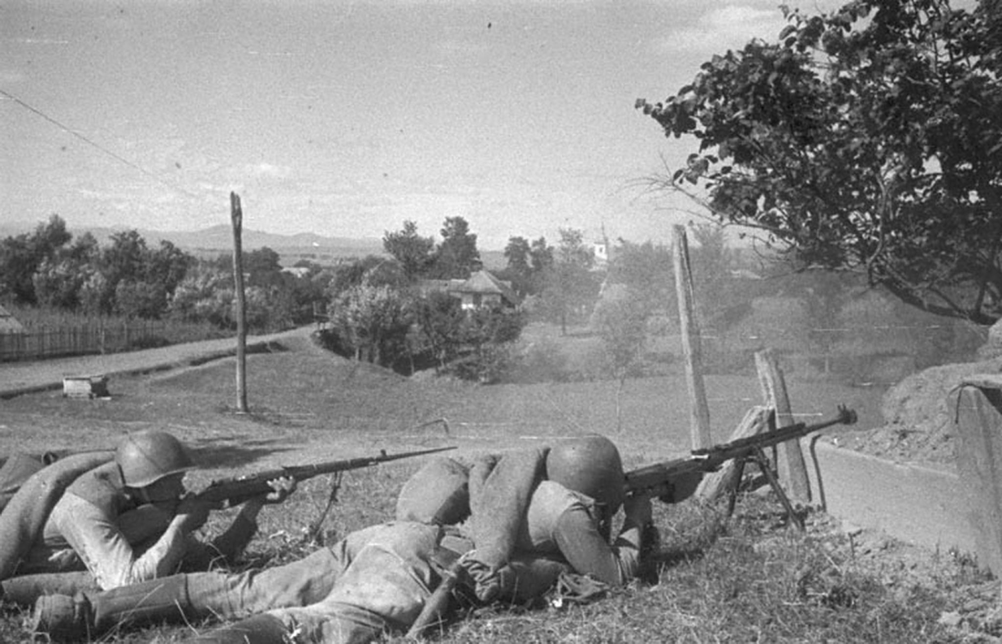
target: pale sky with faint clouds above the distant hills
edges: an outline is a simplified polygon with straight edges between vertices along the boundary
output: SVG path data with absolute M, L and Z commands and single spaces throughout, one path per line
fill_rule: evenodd
M 635 110 L 779 0 L 0 0 L 0 219 L 667 242 L 694 143 Z M 838 3 L 797 2 L 809 12 Z

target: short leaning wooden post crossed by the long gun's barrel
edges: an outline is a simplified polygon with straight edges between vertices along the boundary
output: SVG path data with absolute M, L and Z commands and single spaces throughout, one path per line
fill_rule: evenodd
M 755 355 L 756 369 L 759 371 L 759 383 L 762 385 L 766 405 L 776 410 L 776 427 L 787 427 L 794 424 L 794 415 L 790 408 L 790 396 L 787 394 L 787 383 L 783 371 L 771 350 L 757 352 Z M 808 479 L 808 469 L 804 464 L 804 452 L 800 441 L 787 441 L 777 448 L 777 470 L 780 481 L 784 484 L 792 501 L 798 503 L 811 502 L 811 482 Z

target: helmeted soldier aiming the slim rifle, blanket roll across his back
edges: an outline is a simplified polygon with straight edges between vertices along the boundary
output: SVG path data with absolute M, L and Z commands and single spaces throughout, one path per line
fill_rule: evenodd
M 137 432 L 113 453 L 78 457 L 28 479 L 0 515 L 9 542 L 0 548 L 4 600 L 31 605 L 53 590 L 111 590 L 206 570 L 242 552 L 262 508 L 295 490 L 291 479 L 270 482 L 271 492 L 246 500 L 229 528 L 204 543 L 192 533 L 218 504 L 185 496 L 182 479 L 194 463 L 174 436 Z

